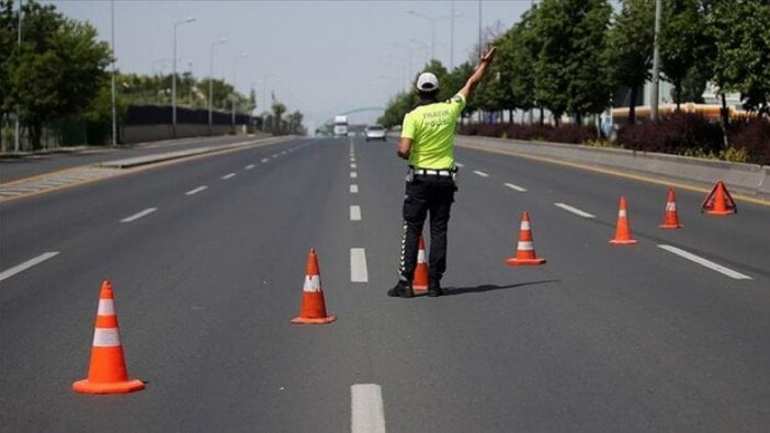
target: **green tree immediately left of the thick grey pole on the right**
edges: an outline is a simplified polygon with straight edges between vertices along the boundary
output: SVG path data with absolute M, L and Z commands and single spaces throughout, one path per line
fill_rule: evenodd
M 655 38 L 653 0 L 622 0 L 608 39 L 608 70 L 613 87 L 629 89 L 629 124 L 636 121 L 638 91 L 649 79 Z

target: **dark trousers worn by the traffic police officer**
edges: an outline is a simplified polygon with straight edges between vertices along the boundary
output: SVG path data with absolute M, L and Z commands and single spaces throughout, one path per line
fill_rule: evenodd
M 400 278 L 411 282 L 426 217 L 430 214 L 429 278 L 439 283 L 446 271 L 446 229 L 456 191 L 450 176 L 415 175 L 406 183 L 404 197 L 404 237 L 399 263 Z

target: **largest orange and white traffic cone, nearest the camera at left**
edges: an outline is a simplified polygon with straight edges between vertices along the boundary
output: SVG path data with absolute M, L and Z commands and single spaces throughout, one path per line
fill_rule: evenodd
M 128 379 L 112 284 L 109 281 L 102 283 L 99 294 L 88 378 L 73 383 L 72 389 L 82 394 L 126 394 L 145 389 L 141 380 Z

